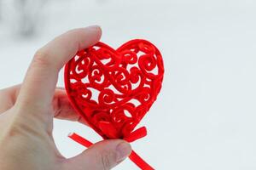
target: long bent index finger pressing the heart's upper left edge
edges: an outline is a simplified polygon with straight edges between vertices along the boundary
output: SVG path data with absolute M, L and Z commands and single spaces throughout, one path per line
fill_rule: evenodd
M 26 108 L 32 106 L 48 109 L 61 67 L 79 50 L 98 42 L 100 37 L 101 29 L 98 26 L 75 29 L 56 37 L 39 49 L 26 73 L 18 102 L 26 105 Z

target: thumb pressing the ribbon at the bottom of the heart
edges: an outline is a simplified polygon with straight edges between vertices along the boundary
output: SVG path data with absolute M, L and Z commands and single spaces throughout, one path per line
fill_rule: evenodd
M 109 139 L 92 145 L 79 156 L 67 160 L 67 169 L 108 170 L 131 154 L 131 145 L 124 140 Z

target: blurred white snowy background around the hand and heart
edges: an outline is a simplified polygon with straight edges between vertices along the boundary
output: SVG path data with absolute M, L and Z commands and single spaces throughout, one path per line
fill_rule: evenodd
M 255 8 L 253 0 L 0 0 L 0 88 L 20 83 L 35 51 L 72 28 L 100 25 L 114 48 L 145 38 L 160 48 L 166 75 L 134 150 L 156 169 L 256 169 Z M 84 150 L 70 132 L 100 139 L 55 121 L 67 157 Z M 115 169 L 137 167 L 127 160 Z

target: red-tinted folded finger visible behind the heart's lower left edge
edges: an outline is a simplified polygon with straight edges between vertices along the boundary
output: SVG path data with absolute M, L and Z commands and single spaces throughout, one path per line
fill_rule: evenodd
M 55 90 L 53 107 L 55 112 L 55 118 L 73 122 L 80 122 L 84 125 L 88 125 L 88 123 L 84 121 L 82 116 L 80 116 L 79 113 L 73 109 L 73 106 L 70 104 L 64 88 L 58 88 Z

